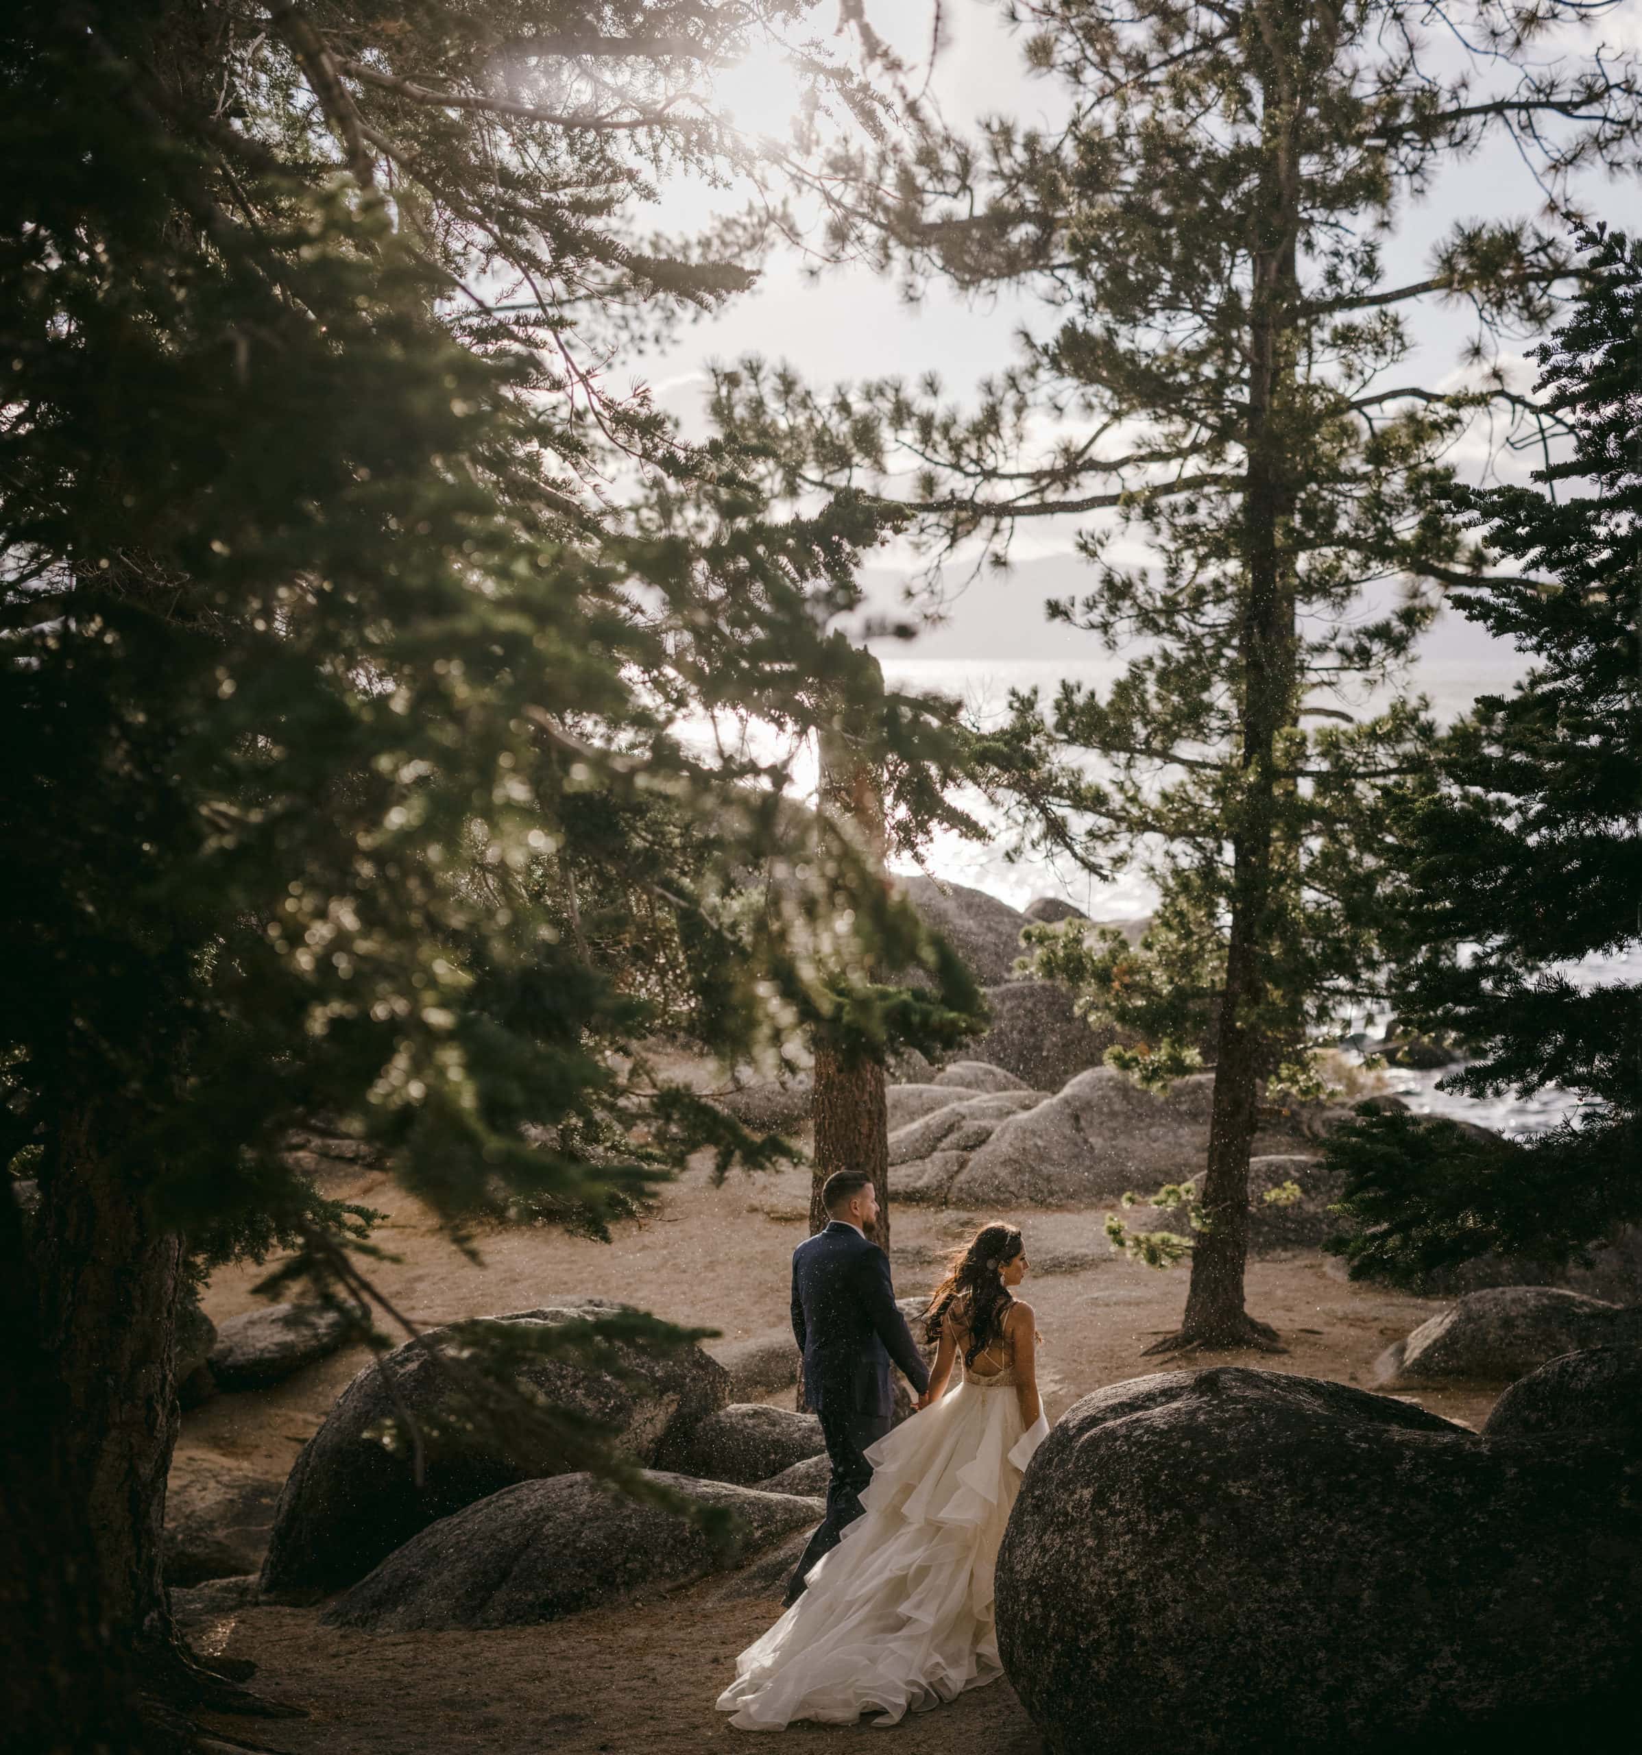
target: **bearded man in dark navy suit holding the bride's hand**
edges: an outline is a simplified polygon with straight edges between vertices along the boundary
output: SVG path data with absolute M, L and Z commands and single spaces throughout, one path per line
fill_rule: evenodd
M 907 1320 L 895 1307 L 889 1257 L 867 1239 L 877 1192 L 865 1171 L 835 1171 L 821 1185 L 828 1225 L 793 1251 L 793 1334 L 803 1353 L 803 1395 L 821 1416 L 832 1462 L 826 1518 L 803 1550 L 786 1608 L 803 1595 L 810 1567 L 839 1546 L 844 1525 L 861 1515 L 872 1479 L 863 1451 L 888 1430 L 895 1409 L 889 1362 L 900 1365 L 923 1408 L 930 1372 Z

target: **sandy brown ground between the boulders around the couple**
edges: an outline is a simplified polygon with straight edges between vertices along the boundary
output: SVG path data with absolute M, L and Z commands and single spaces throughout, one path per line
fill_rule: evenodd
M 379 1241 L 400 1260 L 375 1274 L 423 1323 L 525 1309 L 567 1293 L 621 1297 L 660 1316 L 742 1339 L 786 1320 L 788 1257 L 805 1236 L 807 1171 L 712 1186 L 695 1172 L 667 1190 L 660 1209 L 626 1223 L 612 1244 L 551 1230 L 484 1239 L 482 1265 L 442 1241 L 426 1214 L 381 1176 L 332 1192 L 389 1213 Z M 930 1258 L 974 1223 L 1007 1216 L 1033 1246 L 1105 1250 L 1105 1209 L 953 1214 L 900 1207 L 893 1214 L 896 1290 L 928 1290 Z M 261 1269 L 221 1271 L 205 1297 L 221 1322 L 253 1307 Z M 1032 1278 L 1024 1297 L 1044 1336 L 1040 1385 L 1049 1418 L 1089 1390 L 1158 1369 L 1140 1357 L 1181 1313 L 1186 1271 L 1154 1272 L 1103 1260 L 1079 1274 Z M 1442 1309 L 1379 1288 L 1354 1286 L 1326 1258 L 1300 1253 L 1251 1264 L 1249 1309 L 1274 1323 L 1281 1357 L 1214 1355 L 1342 1383 L 1374 1385 L 1372 1364 L 1395 1337 Z M 309 1367 L 274 1392 L 225 1395 L 184 1418 L 182 1451 L 211 1451 L 282 1478 L 298 1448 L 365 1362 L 363 1351 Z M 1496 1392 L 1431 1390 L 1433 1413 L 1479 1425 Z M 1412 1397 L 1410 1397 L 1412 1399 Z M 318 1625 L 314 1609 L 254 1608 L 216 1625 L 207 1643 L 260 1665 L 254 1687 L 302 1706 L 307 1718 L 223 1722 L 293 1755 L 675 1755 L 726 1748 L 739 1732 L 712 1702 L 735 1653 L 779 1613 L 770 1601 L 726 1601 L 703 1581 L 651 1601 L 595 1611 L 539 1629 L 475 1634 L 370 1636 Z M 893 1736 L 903 1755 L 1026 1755 L 1037 1750 L 1007 1683 L 965 1695 L 893 1732 L 872 1727 L 795 1727 L 800 1746 L 881 1748 Z

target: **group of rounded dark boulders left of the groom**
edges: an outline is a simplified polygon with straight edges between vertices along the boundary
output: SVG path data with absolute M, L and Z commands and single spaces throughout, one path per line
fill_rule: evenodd
M 279 1495 L 261 1595 L 344 1590 L 332 1615 L 358 1627 L 518 1625 L 733 1569 L 814 1527 L 819 1504 L 793 1471 L 823 1451 L 819 1423 L 733 1400 L 793 1379 L 791 1334 L 784 1350 L 774 1336 L 739 1358 L 726 1348 L 739 1376 L 698 1346 L 600 1343 L 589 1364 L 544 1334 L 621 1309 L 563 1299 L 433 1330 L 367 1365 Z M 510 1358 L 525 1399 L 510 1415 L 486 1411 L 465 1378 L 482 1348 Z M 533 1418 L 547 1408 L 551 1422 Z M 582 1467 L 593 1434 L 633 1467 L 640 1499 Z M 709 1508 L 705 1523 L 682 1515 L 686 1501 Z

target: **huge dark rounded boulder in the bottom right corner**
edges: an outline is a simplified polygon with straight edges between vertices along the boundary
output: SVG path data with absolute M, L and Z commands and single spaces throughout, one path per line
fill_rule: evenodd
M 1121 1383 L 1026 1471 L 998 1648 L 1051 1755 L 1617 1748 L 1638 1469 L 1279 1372 Z

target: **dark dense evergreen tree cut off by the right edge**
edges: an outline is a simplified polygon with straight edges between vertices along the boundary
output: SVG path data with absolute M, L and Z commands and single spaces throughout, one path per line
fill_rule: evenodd
M 1572 446 L 1537 488 L 1454 493 L 1523 569 L 1454 602 L 1535 669 L 1453 730 L 1435 793 L 1400 800 L 1393 893 L 1398 1016 L 1475 1055 L 1444 1086 L 1560 1085 L 1581 1109 L 1514 1144 L 1400 1114 L 1347 1123 L 1328 1158 L 1354 1274 L 1409 1281 L 1484 1250 L 1565 1262 L 1642 1221 L 1642 983 L 1570 974 L 1642 942 L 1642 244 L 1582 242 L 1581 297 L 1537 349 Z

